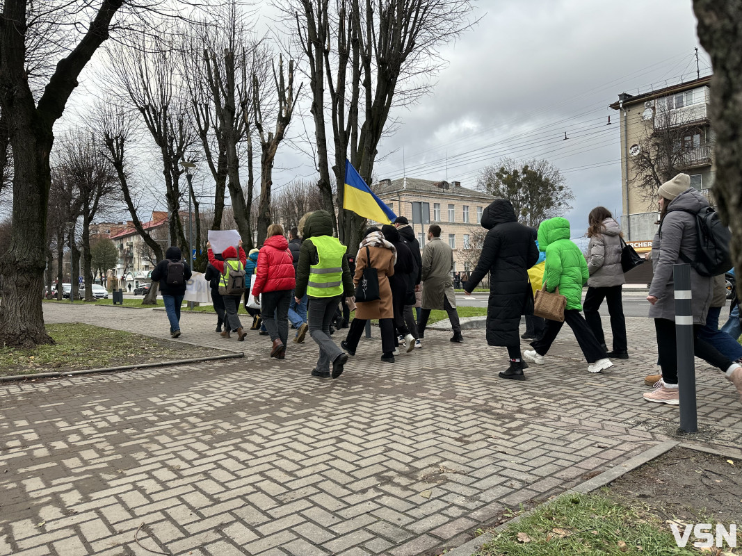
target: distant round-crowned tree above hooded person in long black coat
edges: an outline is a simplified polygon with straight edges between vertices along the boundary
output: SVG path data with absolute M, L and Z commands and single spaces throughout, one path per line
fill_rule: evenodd
M 566 181 L 548 160 L 519 162 L 506 157 L 479 173 L 477 187 L 508 199 L 521 224 L 538 228 L 545 219 L 562 216 L 572 208 L 569 202 L 574 193 Z

